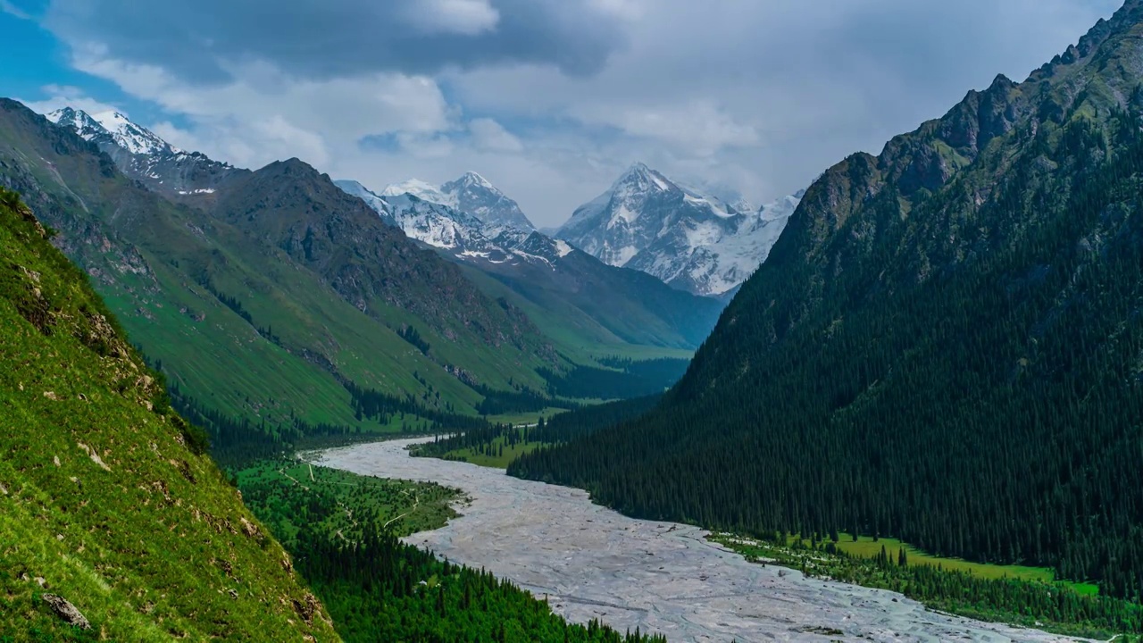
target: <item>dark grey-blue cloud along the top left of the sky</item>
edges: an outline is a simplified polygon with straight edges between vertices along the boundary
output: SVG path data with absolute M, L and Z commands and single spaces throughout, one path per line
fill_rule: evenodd
M 98 42 L 112 57 L 160 65 L 191 80 L 224 79 L 219 61 L 269 61 L 303 78 L 432 73 L 504 62 L 589 74 L 624 42 L 604 6 L 591 0 L 54 0 L 45 22 L 73 43 Z M 466 27 L 464 21 L 487 19 L 488 11 L 490 24 Z M 439 29 L 431 29 L 434 21 Z

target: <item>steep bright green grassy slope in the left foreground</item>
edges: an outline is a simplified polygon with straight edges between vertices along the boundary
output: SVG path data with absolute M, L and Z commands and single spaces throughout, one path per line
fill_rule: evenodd
M 336 640 L 51 235 L 0 190 L 0 638 Z

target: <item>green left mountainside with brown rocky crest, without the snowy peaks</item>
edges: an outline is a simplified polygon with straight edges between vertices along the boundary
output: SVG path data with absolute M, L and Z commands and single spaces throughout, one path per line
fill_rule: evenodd
M 425 428 L 567 367 L 520 310 L 301 161 L 231 168 L 175 204 L 97 145 L 0 102 L 0 185 L 216 437 Z M 384 413 L 363 418 L 353 390 L 389 396 Z

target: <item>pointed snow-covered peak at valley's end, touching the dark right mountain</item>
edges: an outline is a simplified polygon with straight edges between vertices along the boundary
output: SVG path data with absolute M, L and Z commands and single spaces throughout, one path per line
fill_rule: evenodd
M 632 268 L 695 294 L 721 295 L 766 260 L 797 207 L 786 197 L 758 212 L 672 182 L 636 164 L 581 206 L 557 237 L 610 265 Z

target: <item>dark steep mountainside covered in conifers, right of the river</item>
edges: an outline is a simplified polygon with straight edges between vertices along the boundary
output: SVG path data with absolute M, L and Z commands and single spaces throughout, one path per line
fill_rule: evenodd
M 515 475 L 1143 594 L 1143 2 L 806 193 L 648 415 Z

